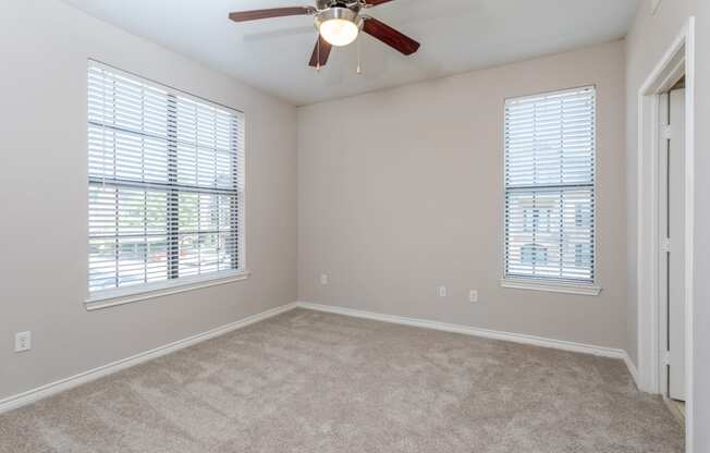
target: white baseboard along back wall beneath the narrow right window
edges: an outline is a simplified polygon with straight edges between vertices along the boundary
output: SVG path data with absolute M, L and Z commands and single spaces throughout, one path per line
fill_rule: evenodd
M 448 322 L 431 321 L 427 319 L 417 319 L 417 318 L 409 318 L 409 317 L 395 316 L 395 315 L 383 315 L 379 313 L 363 311 L 353 308 L 338 307 L 333 305 L 311 304 L 309 302 L 297 302 L 296 305 L 298 308 L 305 308 L 309 310 L 326 311 L 326 313 L 332 313 L 336 315 L 351 316 L 355 318 L 364 318 L 364 319 L 371 319 L 371 320 L 382 321 L 382 322 L 391 322 L 395 325 L 413 326 L 413 327 L 419 327 L 424 329 L 441 330 L 444 332 L 462 333 L 464 335 L 510 341 L 514 343 L 529 344 L 529 345 L 540 346 L 540 347 L 550 347 L 553 350 L 562 350 L 562 351 L 570 351 L 574 353 L 592 354 L 601 357 L 616 358 L 620 360 L 624 360 L 624 363 L 628 367 L 628 371 L 634 378 L 634 382 L 636 383 L 636 387 L 638 387 L 638 372 L 633 362 L 628 357 L 628 354 L 624 350 L 615 350 L 612 347 L 604 347 L 604 346 L 595 346 L 591 344 L 575 343 L 575 342 L 564 341 L 564 340 L 546 339 L 542 336 L 526 335 L 522 333 L 511 333 L 511 332 L 501 332 L 501 331 L 489 330 L 489 329 L 478 329 L 469 326 L 452 325 Z

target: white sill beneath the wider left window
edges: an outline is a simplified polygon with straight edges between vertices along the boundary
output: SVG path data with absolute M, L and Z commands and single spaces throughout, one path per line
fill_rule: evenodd
M 176 282 L 161 282 L 149 286 L 143 285 L 101 291 L 89 296 L 85 301 L 85 306 L 88 311 L 98 310 L 114 307 L 117 305 L 132 304 L 134 302 L 200 290 L 203 287 L 238 282 L 248 279 L 250 274 L 252 272 L 249 271 L 241 270 L 234 272 L 221 272 L 210 277 L 194 278 Z

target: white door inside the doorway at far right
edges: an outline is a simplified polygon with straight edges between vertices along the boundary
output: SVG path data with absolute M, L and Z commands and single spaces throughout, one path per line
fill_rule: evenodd
M 662 295 L 668 318 L 668 396 L 685 401 L 685 89 L 662 98 L 668 102 L 661 140 Z

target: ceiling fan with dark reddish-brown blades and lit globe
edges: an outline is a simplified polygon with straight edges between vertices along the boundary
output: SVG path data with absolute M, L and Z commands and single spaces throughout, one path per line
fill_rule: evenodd
M 316 0 L 315 7 L 238 11 L 230 13 L 230 19 L 234 22 L 247 22 L 289 15 L 315 16 L 314 24 L 319 35 L 309 64 L 320 69 L 328 62 L 332 46 L 347 46 L 357 39 L 360 30 L 405 56 L 416 52 L 419 49 L 419 42 L 377 19 L 364 14 L 364 11 L 390 1 L 392 0 Z

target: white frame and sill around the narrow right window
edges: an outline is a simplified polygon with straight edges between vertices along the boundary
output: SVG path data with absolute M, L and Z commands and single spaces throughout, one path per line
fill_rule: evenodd
M 574 281 L 566 281 L 562 279 L 554 279 L 554 278 L 536 278 L 536 277 L 509 277 L 507 276 L 507 267 L 506 267 L 506 229 L 507 229 L 507 223 L 506 223 L 506 194 L 507 194 L 507 185 L 506 185 L 506 172 L 505 172 L 505 159 L 506 159 L 506 140 L 505 140 L 505 126 L 506 126 L 506 121 L 505 121 L 505 107 L 506 103 L 511 100 L 524 100 L 527 98 L 535 98 L 535 97 L 540 97 L 540 96 L 549 96 L 549 95 L 556 95 L 556 94 L 565 94 L 565 93 L 572 93 L 572 91 L 577 91 L 582 89 L 593 89 L 595 90 L 595 163 L 593 163 L 593 171 L 595 171 L 595 179 L 593 183 L 591 184 L 592 191 L 593 191 L 593 219 L 595 219 L 595 241 L 592 244 L 592 250 L 593 250 L 593 266 L 595 266 L 595 272 L 593 272 L 593 279 L 591 282 L 574 282 Z M 501 139 L 502 139 L 502 152 L 501 152 L 501 164 L 502 164 L 502 171 L 501 171 L 501 181 L 502 181 L 502 209 L 501 209 L 501 247 L 500 250 L 502 253 L 501 256 L 501 261 L 500 261 L 500 271 L 501 271 L 501 279 L 500 279 L 500 285 L 503 289 L 511 289 L 511 290 L 527 290 L 527 291 L 540 291 L 540 292 L 550 292 L 550 293 L 563 293 L 563 294 L 575 294 L 575 295 L 583 295 L 583 296 L 598 296 L 602 287 L 599 284 L 599 272 L 598 272 L 598 262 L 599 262 L 599 217 L 598 217 L 598 205 L 599 205 L 599 193 L 598 193 L 598 167 L 599 167 L 599 152 L 598 152 L 598 131 L 599 131 L 599 96 L 598 96 L 598 87 L 596 84 L 591 85 L 580 85 L 580 86 L 575 86 L 575 87 L 570 87 L 570 88 L 562 88 L 562 89 L 552 89 L 552 90 L 546 90 L 546 91 L 537 91 L 537 93 L 531 93 L 527 95 L 521 95 L 521 96 L 510 96 L 505 97 L 502 102 L 502 126 L 501 126 Z

